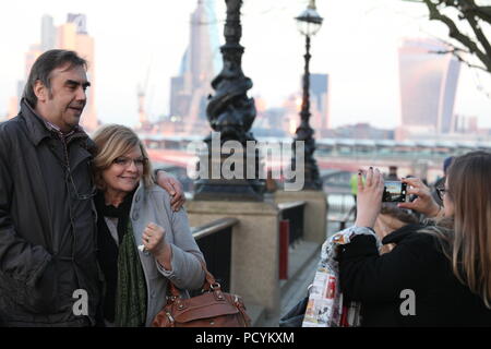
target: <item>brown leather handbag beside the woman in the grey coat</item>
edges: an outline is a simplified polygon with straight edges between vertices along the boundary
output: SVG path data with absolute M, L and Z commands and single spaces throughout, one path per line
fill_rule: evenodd
M 172 282 L 169 284 L 167 303 L 155 316 L 154 327 L 249 327 L 251 318 L 237 294 L 225 293 L 213 275 L 206 273 L 202 294 L 183 299 Z

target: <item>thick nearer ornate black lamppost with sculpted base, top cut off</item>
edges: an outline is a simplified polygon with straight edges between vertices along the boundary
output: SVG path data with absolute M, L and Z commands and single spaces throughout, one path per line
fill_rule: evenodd
M 202 166 L 207 165 L 207 176 L 195 182 L 194 198 L 263 201 L 265 185 L 264 180 L 260 179 L 259 152 L 246 152 L 248 141 L 255 142 L 250 129 L 256 112 L 254 99 L 247 95 L 248 89 L 252 87 L 252 81 L 243 74 L 241 67 L 244 50 L 239 44 L 242 36 L 240 25 L 242 0 L 225 0 L 225 2 L 227 5 L 224 28 L 226 43 L 220 47 L 224 68 L 212 82 L 215 95 L 208 97 L 206 107 L 206 117 L 214 133 L 204 140 L 207 145 L 207 155 L 201 157 L 199 165 L 201 173 L 203 173 Z M 217 136 L 219 141 L 216 140 Z M 240 157 L 242 161 L 233 164 L 232 169 L 238 170 L 240 167 L 241 171 L 237 172 L 242 172 L 243 178 L 230 179 L 221 172 L 223 165 L 228 161 L 228 155 L 223 154 L 223 145 L 227 141 L 241 145 L 241 151 L 235 149 L 233 156 Z

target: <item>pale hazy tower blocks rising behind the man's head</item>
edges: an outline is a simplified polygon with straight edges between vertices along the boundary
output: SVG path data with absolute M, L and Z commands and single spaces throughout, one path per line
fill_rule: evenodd
M 98 125 L 95 108 L 95 52 L 94 38 L 87 34 L 85 14 L 69 13 L 67 23 L 55 26 L 50 15 L 44 15 L 41 19 L 40 44 L 31 45 L 25 53 L 25 76 L 17 84 L 16 96 L 9 100 L 9 116 L 14 117 L 19 110 L 19 103 L 22 98 L 25 81 L 36 59 L 45 51 L 60 48 L 76 51 L 88 62 L 87 77 L 91 81 L 91 87 L 87 89 L 87 105 L 82 115 L 81 124 L 88 131 L 94 131 Z

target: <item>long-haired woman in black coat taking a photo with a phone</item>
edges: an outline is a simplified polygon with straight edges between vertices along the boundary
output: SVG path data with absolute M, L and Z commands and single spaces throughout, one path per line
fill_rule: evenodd
M 385 314 L 371 326 L 491 326 L 491 154 L 455 158 L 439 208 L 417 179 L 405 180 L 418 198 L 399 207 L 438 216 L 434 226 L 395 231 L 382 243 L 374 233 L 358 234 L 339 253 L 345 297 Z M 358 181 L 358 217 L 354 229 L 373 229 L 384 190 L 379 170 Z M 363 325 L 363 322 L 362 322 Z

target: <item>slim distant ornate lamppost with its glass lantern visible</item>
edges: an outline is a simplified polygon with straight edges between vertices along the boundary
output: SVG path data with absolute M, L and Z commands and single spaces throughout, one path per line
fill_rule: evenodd
M 306 36 L 306 55 L 303 56 L 306 59 L 304 72 L 303 72 L 303 98 L 302 98 L 302 107 L 300 111 L 300 125 L 296 131 L 296 137 L 294 140 L 294 157 L 292 168 L 296 167 L 297 159 L 295 154 L 296 142 L 302 141 L 304 142 L 304 189 L 308 190 L 322 190 L 322 181 L 319 176 L 318 164 L 313 157 L 313 153 L 315 151 L 315 141 L 313 139 L 314 131 L 309 124 L 310 119 L 310 72 L 309 72 L 309 62 L 310 62 L 310 38 L 315 35 L 321 28 L 323 19 L 319 15 L 315 9 L 315 0 L 310 0 L 307 10 L 304 10 L 299 16 L 297 16 L 298 29 L 302 35 Z

